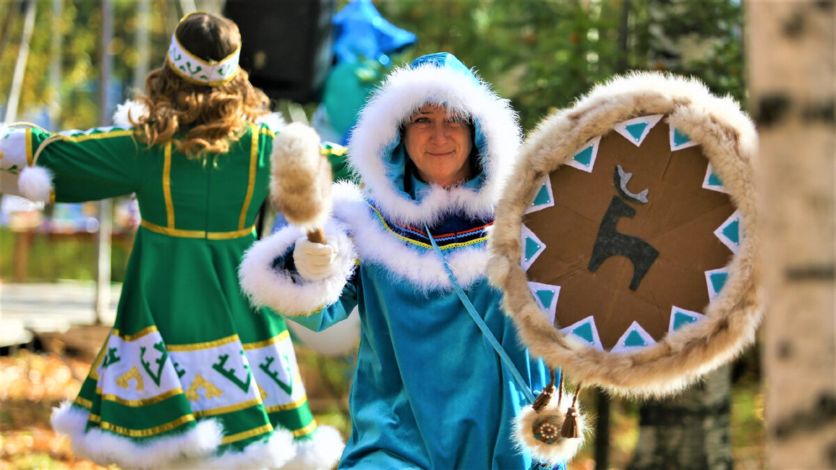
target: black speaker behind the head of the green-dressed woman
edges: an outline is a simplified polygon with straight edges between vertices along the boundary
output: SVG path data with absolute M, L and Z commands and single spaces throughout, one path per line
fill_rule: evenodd
M 335 0 L 227 0 L 241 30 L 241 67 L 273 100 L 319 101 L 334 62 Z

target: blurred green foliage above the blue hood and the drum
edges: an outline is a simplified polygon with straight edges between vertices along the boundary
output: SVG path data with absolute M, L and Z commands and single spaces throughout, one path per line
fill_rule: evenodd
M 742 99 L 742 15 L 729 0 L 388 0 L 375 5 L 390 23 L 418 35 L 415 47 L 397 59 L 440 50 L 456 54 L 512 100 L 524 130 L 628 69 L 695 75 L 715 93 Z M 660 60 L 664 37 L 675 39 L 667 53 L 672 60 Z M 695 42 L 702 48 L 687 49 Z

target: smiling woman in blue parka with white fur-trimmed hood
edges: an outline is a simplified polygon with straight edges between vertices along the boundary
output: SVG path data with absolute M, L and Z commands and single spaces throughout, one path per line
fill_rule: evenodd
M 531 467 L 513 442 L 514 416 L 548 373 L 484 275 L 494 205 L 520 140 L 507 100 L 452 54 L 423 56 L 395 69 L 362 110 L 349 140 L 362 189 L 334 186 L 329 244 L 286 227 L 247 253 L 242 287 L 257 304 L 311 330 L 359 307 L 340 467 Z

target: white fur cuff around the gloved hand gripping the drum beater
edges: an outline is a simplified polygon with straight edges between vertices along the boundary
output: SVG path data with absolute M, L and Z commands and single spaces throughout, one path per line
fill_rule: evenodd
M 345 228 L 330 220 L 325 224 L 329 242 L 336 245 L 339 269 L 319 281 L 306 281 L 298 273 L 274 267 L 276 258 L 288 253 L 303 233 L 293 226 L 284 227 L 252 245 L 244 253 L 238 278 L 250 302 L 266 305 L 288 316 L 307 315 L 339 300 L 345 283 L 354 272 L 357 253 Z

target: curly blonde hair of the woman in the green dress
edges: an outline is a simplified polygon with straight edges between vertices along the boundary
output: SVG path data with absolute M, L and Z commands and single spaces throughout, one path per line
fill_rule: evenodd
M 237 25 L 212 13 L 183 18 L 175 34 L 185 49 L 206 61 L 224 59 L 241 46 Z M 131 120 L 139 139 L 150 145 L 173 140 L 190 158 L 226 153 L 248 122 L 270 112 L 267 95 L 250 84 L 243 69 L 225 84 L 208 86 L 191 84 L 163 64 L 145 78 L 145 95 L 137 101 L 149 110 Z M 174 139 L 180 130 L 186 135 Z

